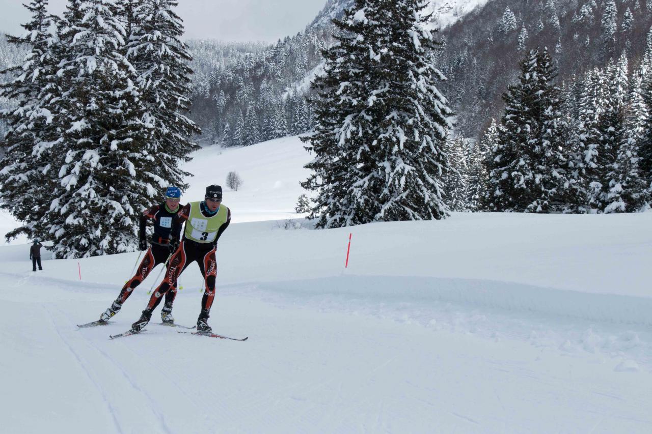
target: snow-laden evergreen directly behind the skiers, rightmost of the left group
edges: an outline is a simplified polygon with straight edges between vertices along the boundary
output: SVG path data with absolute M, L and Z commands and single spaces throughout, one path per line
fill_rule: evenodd
M 187 117 L 192 59 L 181 41 L 183 23 L 173 11 L 176 0 L 140 0 L 127 58 L 136 70 L 136 86 L 145 106 L 143 123 L 153 128 L 149 149 L 156 155 L 151 177 L 158 187 L 186 187 L 190 175 L 180 169 L 199 149 L 192 137 L 201 130 Z

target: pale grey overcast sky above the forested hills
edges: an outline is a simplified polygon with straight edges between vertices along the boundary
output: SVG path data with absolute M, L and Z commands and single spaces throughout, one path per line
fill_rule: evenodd
M 17 34 L 29 19 L 22 3 L 0 0 L 0 31 Z M 61 16 L 67 0 L 50 0 L 50 12 Z M 259 40 L 275 42 L 302 31 L 312 22 L 326 0 L 179 0 L 177 14 L 183 19 L 184 38 Z

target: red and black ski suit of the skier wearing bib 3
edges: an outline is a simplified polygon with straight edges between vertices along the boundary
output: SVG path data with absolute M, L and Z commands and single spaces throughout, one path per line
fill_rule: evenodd
M 224 206 L 224 205 L 222 205 Z M 201 213 L 206 217 L 210 215 L 207 214 L 205 205 L 202 202 L 200 205 Z M 179 222 L 188 220 L 190 216 L 190 205 L 186 205 L 183 210 L 179 213 Z M 181 276 L 183 270 L 188 267 L 194 261 L 197 261 L 197 265 L 200 267 L 201 275 L 204 278 L 204 293 L 201 297 L 201 313 L 200 318 L 208 318 L 209 312 L 211 311 L 211 306 L 213 305 L 213 299 L 215 298 L 215 279 L 217 277 L 217 261 L 215 259 L 215 250 L 217 248 L 217 240 L 220 239 L 222 233 L 226 230 L 226 227 L 231 222 L 231 210 L 227 209 L 227 218 L 226 223 L 220 226 L 218 229 L 215 241 L 210 243 L 200 243 L 194 242 L 193 240 L 186 239 L 183 237 L 179 248 L 170 258 L 170 264 L 168 264 L 168 270 L 166 270 L 166 276 L 163 281 L 158 285 L 156 291 L 152 294 L 152 297 L 149 299 L 149 304 L 147 304 L 147 311 L 153 311 L 156 309 L 156 306 L 161 302 L 161 296 L 166 295 L 173 291 L 175 288 L 175 282 Z M 186 222 L 186 224 L 188 224 Z M 167 300 L 167 298 L 166 298 Z

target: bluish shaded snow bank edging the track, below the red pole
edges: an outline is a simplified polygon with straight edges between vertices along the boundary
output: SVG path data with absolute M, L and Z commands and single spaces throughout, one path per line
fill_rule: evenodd
M 652 325 L 652 298 L 590 294 L 522 283 L 437 279 L 415 276 L 334 276 L 259 284 L 259 289 L 297 300 L 318 298 L 321 304 L 340 300 L 339 310 L 360 304 L 456 303 L 469 308 L 497 308 L 548 317 Z

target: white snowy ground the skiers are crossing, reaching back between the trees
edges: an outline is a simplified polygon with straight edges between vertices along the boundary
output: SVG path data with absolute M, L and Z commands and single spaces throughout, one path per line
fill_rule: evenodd
M 284 229 L 310 160 L 298 139 L 203 149 L 233 224 L 209 323 L 121 340 L 158 269 L 97 319 L 138 253 L 45 260 L 0 247 L 3 433 L 650 433 L 652 213 L 453 214 Z M 349 233 L 349 267 L 344 268 Z M 80 280 L 81 270 L 81 280 Z M 173 314 L 194 325 L 201 276 Z

